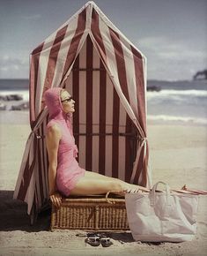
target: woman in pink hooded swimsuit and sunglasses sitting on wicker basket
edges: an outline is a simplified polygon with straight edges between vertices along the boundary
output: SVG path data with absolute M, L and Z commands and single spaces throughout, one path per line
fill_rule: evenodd
M 71 115 L 75 111 L 75 101 L 65 89 L 59 87 L 48 89 L 44 98 L 50 119 L 46 132 L 49 196 L 56 207 L 61 205 L 61 194 L 64 196 L 101 194 L 108 191 L 126 192 L 138 189 L 149 191 L 118 178 L 81 169 L 76 160 L 78 148 L 75 145 L 70 122 Z

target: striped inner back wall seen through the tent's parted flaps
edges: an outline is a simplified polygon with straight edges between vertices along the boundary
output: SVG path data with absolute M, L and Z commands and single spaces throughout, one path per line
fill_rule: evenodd
M 64 87 L 76 102 L 73 132 L 80 166 L 129 182 L 137 154 L 137 128 L 89 35 Z

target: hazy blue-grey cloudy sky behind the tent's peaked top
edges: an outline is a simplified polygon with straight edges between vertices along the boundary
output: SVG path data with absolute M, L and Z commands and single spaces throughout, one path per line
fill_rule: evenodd
M 28 79 L 29 56 L 85 0 L 0 0 L 0 79 Z M 147 78 L 207 68 L 207 0 L 94 0 L 147 58 Z

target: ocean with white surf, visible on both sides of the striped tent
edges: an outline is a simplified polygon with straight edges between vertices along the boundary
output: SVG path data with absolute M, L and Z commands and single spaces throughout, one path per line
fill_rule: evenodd
M 148 80 L 147 86 L 160 89 L 159 91 L 147 91 L 147 121 L 150 124 L 158 124 L 159 122 L 165 122 L 166 124 L 207 124 L 206 80 Z M 20 94 L 22 100 L 2 100 L 1 96 L 8 94 Z M 12 105 L 28 102 L 28 80 L 0 79 L 0 98 L 1 106 L 2 104 L 6 106 L 6 110 L 0 111 L 1 119 L 3 119 L 5 111 L 8 117 L 7 110 L 10 110 Z M 24 111 L 27 113 L 28 109 Z

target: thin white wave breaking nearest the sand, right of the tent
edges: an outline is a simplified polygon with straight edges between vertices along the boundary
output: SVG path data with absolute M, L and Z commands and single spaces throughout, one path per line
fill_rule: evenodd
M 169 122 L 183 122 L 193 124 L 207 124 L 207 118 L 201 117 L 179 117 L 179 116 L 167 116 L 167 115 L 148 115 L 147 118 L 152 121 L 169 121 Z

